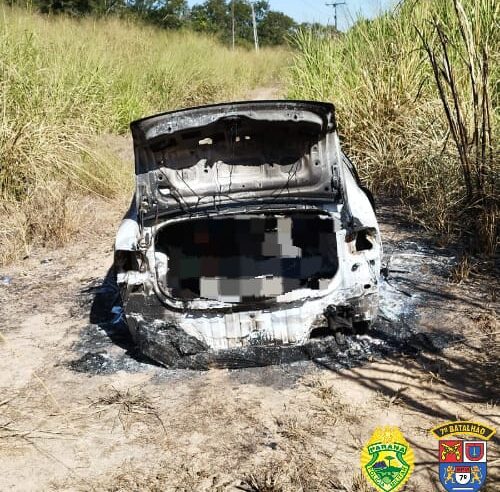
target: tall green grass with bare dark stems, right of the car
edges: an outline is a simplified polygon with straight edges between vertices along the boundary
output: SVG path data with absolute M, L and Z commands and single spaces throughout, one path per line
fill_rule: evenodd
M 495 0 L 407 0 L 345 35 L 295 37 L 289 96 L 333 101 L 347 151 L 422 224 L 493 254 L 498 224 Z

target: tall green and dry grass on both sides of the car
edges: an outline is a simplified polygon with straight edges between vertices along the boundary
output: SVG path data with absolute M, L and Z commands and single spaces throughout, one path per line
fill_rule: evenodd
M 2 5 L 0 263 L 73 237 L 82 196 L 130 189 L 131 170 L 102 135 L 242 97 L 283 74 L 289 97 L 335 103 L 344 147 L 377 194 L 400 197 L 441 238 L 492 254 L 499 9 L 494 0 L 406 0 L 340 37 L 299 33 L 290 67 L 282 49 L 232 51 L 190 32 Z

